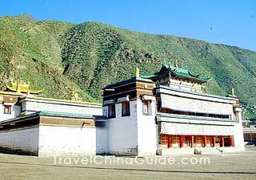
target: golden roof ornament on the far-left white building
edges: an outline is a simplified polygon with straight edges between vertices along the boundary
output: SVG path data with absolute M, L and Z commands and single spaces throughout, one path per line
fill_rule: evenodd
M 26 81 L 21 80 L 18 78 L 18 80 L 11 80 L 10 86 L 7 85 L 6 91 L 8 92 L 16 92 L 16 93 L 27 93 L 27 95 L 30 94 L 39 94 L 42 92 L 42 90 L 32 90 L 30 88 L 30 81 L 26 83 Z

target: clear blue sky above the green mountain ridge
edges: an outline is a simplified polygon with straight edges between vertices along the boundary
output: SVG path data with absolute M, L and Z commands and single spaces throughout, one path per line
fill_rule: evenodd
M 103 22 L 144 33 L 190 37 L 256 51 L 255 0 L 2 0 L 0 16 Z

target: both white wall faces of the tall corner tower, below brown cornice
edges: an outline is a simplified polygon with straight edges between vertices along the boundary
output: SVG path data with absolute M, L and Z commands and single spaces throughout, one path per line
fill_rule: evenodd
M 130 101 L 130 116 L 122 117 L 122 104 L 116 104 L 116 118 L 109 121 L 109 151 L 114 155 L 155 155 L 158 147 L 155 100 L 151 115 L 142 114 L 142 100 Z M 107 114 L 107 108 L 105 109 Z

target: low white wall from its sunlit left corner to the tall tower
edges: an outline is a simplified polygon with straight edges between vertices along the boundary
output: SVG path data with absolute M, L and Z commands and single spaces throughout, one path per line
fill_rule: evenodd
M 107 128 L 40 126 L 39 156 L 99 155 L 108 151 Z

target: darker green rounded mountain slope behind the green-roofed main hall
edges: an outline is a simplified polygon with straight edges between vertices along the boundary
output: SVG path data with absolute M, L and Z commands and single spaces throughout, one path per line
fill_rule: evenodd
M 155 72 L 162 63 L 173 63 L 177 57 L 183 68 L 212 77 L 208 92 L 225 96 L 230 88 L 235 88 L 243 104 L 255 102 L 255 52 L 182 37 L 132 32 L 97 22 L 76 25 L 64 38 L 62 60 L 66 76 L 98 99 L 105 84 L 129 78 L 135 65 L 141 72 Z

